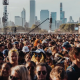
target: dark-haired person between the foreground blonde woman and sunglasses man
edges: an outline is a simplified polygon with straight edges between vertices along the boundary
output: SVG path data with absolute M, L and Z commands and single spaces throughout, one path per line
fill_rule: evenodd
M 36 64 L 33 61 L 27 61 L 25 66 L 29 70 L 29 74 L 31 76 L 31 80 L 35 80 L 36 79 L 36 76 L 35 76 Z

